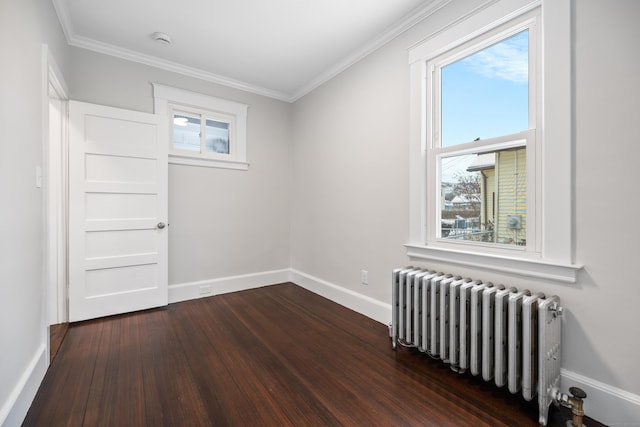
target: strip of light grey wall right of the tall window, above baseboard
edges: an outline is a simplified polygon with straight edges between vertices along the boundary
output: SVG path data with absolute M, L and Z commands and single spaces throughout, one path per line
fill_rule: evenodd
M 640 229 L 632 224 L 640 207 L 633 196 L 640 182 L 640 2 L 574 3 L 575 226 L 577 260 L 585 268 L 567 304 L 566 365 L 637 398 Z M 635 422 L 640 425 L 640 415 Z

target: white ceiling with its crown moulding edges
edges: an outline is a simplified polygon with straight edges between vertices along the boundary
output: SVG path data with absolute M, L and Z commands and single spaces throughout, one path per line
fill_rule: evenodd
M 72 46 L 294 101 L 447 0 L 52 1 Z

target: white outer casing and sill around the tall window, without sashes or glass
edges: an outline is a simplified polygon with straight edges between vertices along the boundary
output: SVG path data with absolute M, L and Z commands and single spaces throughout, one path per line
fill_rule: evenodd
M 537 124 L 527 140 L 527 203 L 534 201 L 533 224 L 527 217 L 527 248 L 461 244 L 437 239 L 434 179 L 437 156 L 433 147 L 433 116 L 429 108 L 429 61 L 471 40 L 495 37 L 506 25 L 518 25 L 539 13 L 540 73 Z M 478 267 L 525 277 L 575 283 L 573 254 L 573 141 L 571 108 L 571 10 L 570 0 L 500 0 L 476 11 L 461 22 L 444 27 L 409 50 L 410 104 L 410 241 L 405 245 L 413 261 L 432 261 Z M 541 25 L 540 25 L 541 24 Z M 531 35 L 531 33 L 530 33 Z M 531 126 L 531 123 L 530 123 Z M 533 139 L 531 139 L 533 138 Z M 491 142 L 488 142 L 491 144 Z M 458 147 L 459 148 L 459 147 Z M 531 168 L 531 169 L 530 169 Z M 530 233 L 533 235 L 530 236 Z M 533 242 L 530 243 L 529 239 Z

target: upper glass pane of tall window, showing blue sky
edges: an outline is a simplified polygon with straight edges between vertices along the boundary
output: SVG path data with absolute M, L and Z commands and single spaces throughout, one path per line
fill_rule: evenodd
M 529 128 L 529 30 L 441 70 L 441 146 Z

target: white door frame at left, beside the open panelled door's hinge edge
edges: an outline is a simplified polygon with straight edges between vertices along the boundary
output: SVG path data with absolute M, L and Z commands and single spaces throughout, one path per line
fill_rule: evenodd
M 49 326 L 68 322 L 67 162 L 69 90 L 48 45 L 42 45 L 42 181 L 44 319 Z M 51 117 L 52 103 L 59 107 Z

